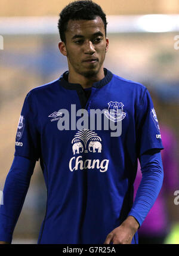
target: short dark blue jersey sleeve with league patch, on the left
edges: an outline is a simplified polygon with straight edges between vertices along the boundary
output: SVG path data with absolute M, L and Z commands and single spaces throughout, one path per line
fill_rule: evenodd
M 33 104 L 31 92 L 26 95 L 18 122 L 14 156 L 23 156 L 38 161 L 40 155 L 40 136 L 38 132 L 38 113 Z

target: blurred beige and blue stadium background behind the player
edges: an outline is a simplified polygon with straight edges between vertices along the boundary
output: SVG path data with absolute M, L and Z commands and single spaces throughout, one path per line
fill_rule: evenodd
M 0 2 L 0 35 L 4 39 L 4 50 L 0 50 L 0 190 L 13 161 L 16 129 L 24 97 L 32 88 L 58 78 L 67 70 L 66 58 L 58 51 L 57 21 L 58 13 L 69 2 Z M 179 1 L 95 2 L 106 12 L 109 23 L 107 36 L 110 48 L 105 66 L 119 76 L 146 85 L 155 95 L 159 124 L 171 128 L 178 141 L 179 50 L 174 48 L 174 37 L 179 35 Z M 177 150 L 176 158 L 178 153 Z M 175 190 L 179 190 L 179 181 Z M 14 230 L 13 243 L 37 242 L 45 204 L 46 189 L 37 163 Z M 179 205 L 173 202 L 171 205 L 176 213 Z M 175 223 L 176 220 L 173 221 Z

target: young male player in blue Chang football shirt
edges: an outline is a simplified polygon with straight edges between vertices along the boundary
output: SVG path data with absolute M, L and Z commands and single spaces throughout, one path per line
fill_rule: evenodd
M 34 88 L 24 100 L 0 209 L 1 241 L 11 243 L 40 159 L 47 211 L 38 243 L 138 243 L 137 229 L 162 186 L 163 146 L 147 88 L 103 67 L 106 24 L 106 15 L 92 1 L 75 1 L 61 11 L 59 49 L 69 71 Z M 106 109 L 101 129 L 74 128 L 74 118 L 78 127 L 82 118 L 74 107 L 89 119 L 91 110 Z M 66 129 L 60 129 L 61 119 Z M 106 120 L 122 124 L 120 136 L 105 128 Z M 133 203 L 138 158 L 143 179 Z

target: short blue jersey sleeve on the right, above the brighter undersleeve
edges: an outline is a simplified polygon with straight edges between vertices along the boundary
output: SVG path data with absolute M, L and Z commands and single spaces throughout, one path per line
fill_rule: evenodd
M 150 149 L 163 149 L 158 118 L 147 88 L 138 106 L 137 147 L 138 156 Z

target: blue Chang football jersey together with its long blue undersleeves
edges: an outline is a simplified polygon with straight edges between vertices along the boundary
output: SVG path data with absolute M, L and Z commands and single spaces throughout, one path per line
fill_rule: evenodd
M 8 174 L 17 183 L 7 177 L 12 191 L 18 182 L 24 189 L 20 199 L 15 196 L 14 206 L 7 206 L 11 191 L 4 191 L 9 194 L 0 208 L 0 240 L 11 242 L 38 159 L 47 186 L 47 211 L 38 243 L 103 243 L 128 215 L 141 225 L 161 189 L 160 153 L 145 155 L 163 149 L 146 87 L 106 70 L 105 78 L 92 85 L 87 100 L 81 85 L 69 84 L 66 76 L 67 72 L 34 88 L 24 101 L 16 136 L 17 173 L 13 165 Z M 79 115 L 81 109 L 86 110 L 84 116 L 88 113 L 86 119 Z M 91 110 L 104 110 L 100 122 Z M 112 136 L 114 127 L 107 129 L 107 122 L 119 124 L 118 136 Z M 149 196 L 144 198 L 141 189 L 133 204 L 137 158 L 143 164 Z M 24 168 L 18 166 L 21 161 Z M 137 243 L 137 234 L 132 243 Z

